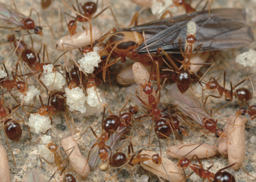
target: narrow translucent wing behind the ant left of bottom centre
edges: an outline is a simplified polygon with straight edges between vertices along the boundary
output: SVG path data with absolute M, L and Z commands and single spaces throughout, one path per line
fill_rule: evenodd
M 110 136 L 110 139 L 107 140 L 107 142 L 105 142 L 105 145 L 109 146 L 110 149 L 112 149 L 112 150 L 116 149 L 116 147 L 118 147 L 118 145 L 121 145 L 119 140 L 120 140 L 121 136 L 123 135 L 123 133 L 125 132 L 125 130 L 126 130 L 126 127 L 122 127 L 122 128 L 118 127 L 116 132 L 114 134 L 112 134 L 112 136 Z M 95 142 L 93 142 L 92 145 L 94 145 Z M 110 152 L 109 152 L 109 157 L 110 157 Z M 90 166 L 90 169 L 92 169 L 92 170 L 94 170 L 95 168 L 97 168 L 97 166 L 102 164 L 102 161 L 99 157 L 99 147 L 98 146 L 94 147 L 90 151 L 88 164 Z

